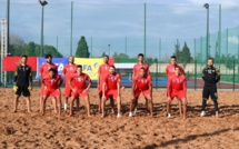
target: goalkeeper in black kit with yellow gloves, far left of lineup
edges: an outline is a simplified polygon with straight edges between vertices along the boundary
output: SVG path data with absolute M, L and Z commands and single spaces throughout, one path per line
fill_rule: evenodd
M 21 95 L 26 97 L 28 112 L 31 112 L 30 106 L 30 91 L 32 90 L 32 74 L 31 74 L 31 67 L 27 64 L 28 57 L 22 56 L 20 64 L 17 66 L 14 71 L 14 101 L 13 101 L 13 112 L 17 112 L 18 109 L 18 99 Z

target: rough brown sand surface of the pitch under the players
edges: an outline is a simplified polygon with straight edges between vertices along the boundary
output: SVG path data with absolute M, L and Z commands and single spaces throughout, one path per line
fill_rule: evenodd
M 57 119 L 47 102 L 46 116 L 39 116 L 39 90 L 32 91 L 32 113 L 27 113 L 20 98 L 19 110 L 12 113 L 11 89 L 0 89 L 0 148 L 239 148 L 239 92 L 219 92 L 220 118 L 213 117 L 213 102 L 208 101 L 207 115 L 200 118 L 201 91 L 188 92 L 188 119 L 179 117 L 177 100 L 172 118 L 166 118 L 166 91 L 153 91 L 155 117 L 147 116 L 145 99 L 139 112 L 128 118 L 130 90 L 122 92 L 122 118 L 97 113 L 97 90 L 91 90 L 91 112 L 88 118 L 84 101 L 73 117 Z M 109 105 L 109 102 L 107 102 Z

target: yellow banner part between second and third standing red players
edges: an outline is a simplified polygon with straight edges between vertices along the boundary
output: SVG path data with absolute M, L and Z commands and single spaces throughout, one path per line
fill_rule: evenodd
M 89 74 L 91 80 L 98 79 L 98 69 L 103 63 L 102 58 L 74 58 L 74 63 L 81 64 L 83 72 Z

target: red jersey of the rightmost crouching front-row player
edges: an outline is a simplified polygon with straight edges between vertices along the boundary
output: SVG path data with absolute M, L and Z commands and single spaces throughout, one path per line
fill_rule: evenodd
M 170 95 L 173 91 L 183 91 L 186 95 L 186 92 L 187 92 L 186 77 L 183 74 L 171 76 L 168 80 L 167 91 L 168 91 L 168 95 Z

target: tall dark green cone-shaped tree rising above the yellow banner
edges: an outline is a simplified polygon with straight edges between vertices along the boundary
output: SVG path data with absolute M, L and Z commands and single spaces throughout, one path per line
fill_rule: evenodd
M 89 47 L 87 46 L 87 41 L 83 36 L 80 38 L 80 41 L 78 42 L 78 47 L 74 56 L 79 58 L 90 57 Z

